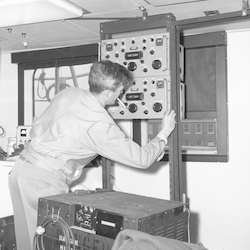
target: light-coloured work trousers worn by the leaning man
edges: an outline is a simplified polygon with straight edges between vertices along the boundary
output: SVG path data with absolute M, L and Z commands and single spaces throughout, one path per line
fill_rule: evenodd
M 9 189 L 17 249 L 31 250 L 37 228 L 39 198 L 68 193 L 68 185 L 61 174 L 19 158 L 9 175 Z

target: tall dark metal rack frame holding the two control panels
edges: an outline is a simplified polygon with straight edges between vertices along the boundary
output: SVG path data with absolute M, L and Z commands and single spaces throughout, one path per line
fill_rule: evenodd
M 163 14 L 157 16 L 148 16 L 145 18 L 134 18 L 120 20 L 108 23 L 102 23 L 100 26 L 101 40 L 106 40 L 122 35 L 134 34 L 135 32 L 156 33 L 158 30 L 164 30 L 170 34 L 170 88 L 171 88 L 171 109 L 177 114 L 177 129 L 170 136 L 169 146 L 169 168 L 170 168 L 170 199 L 175 201 L 181 200 L 181 194 L 184 192 L 180 183 L 182 169 L 182 155 L 179 145 L 179 82 L 180 76 L 177 72 L 179 64 L 179 36 L 176 33 L 176 20 L 173 14 Z M 139 120 L 133 122 L 133 139 L 141 144 L 141 124 Z M 137 136 L 139 135 L 139 137 Z M 106 173 L 104 175 L 107 177 Z M 109 180 L 106 180 L 109 182 Z

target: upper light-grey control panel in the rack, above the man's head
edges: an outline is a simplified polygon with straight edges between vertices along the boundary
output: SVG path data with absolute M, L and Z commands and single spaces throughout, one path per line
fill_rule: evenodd
M 126 66 L 134 77 L 169 75 L 169 33 L 103 40 L 101 59 Z

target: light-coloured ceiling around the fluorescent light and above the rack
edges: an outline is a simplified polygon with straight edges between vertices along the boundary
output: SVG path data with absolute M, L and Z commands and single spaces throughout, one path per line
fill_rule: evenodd
M 2 1 L 2 0 L 0 0 Z M 177 21 L 205 17 L 205 12 L 219 14 L 248 9 L 247 0 L 70 0 L 88 11 L 80 19 L 58 20 L 0 28 L 2 53 L 77 46 L 100 41 L 100 23 L 118 18 L 172 13 Z M 42 11 L 42 10 L 40 10 Z M 0 13 L 1 14 L 1 13 Z M 245 27 L 249 28 L 247 22 Z M 235 29 L 232 25 L 224 29 Z M 24 42 L 27 46 L 24 46 Z

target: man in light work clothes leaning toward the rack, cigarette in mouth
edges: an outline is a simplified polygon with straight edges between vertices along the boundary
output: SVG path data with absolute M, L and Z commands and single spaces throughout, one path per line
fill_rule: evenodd
M 38 199 L 69 192 L 75 172 L 97 155 L 135 168 L 148 168 L 163 156 L 175 127 L 173 111 L 164 116 L 159 135 L 140 147 L 105 109 L 132 82 L 125 67 L 108 60 L 94 63 L 89 91 L 74 87 L 61 91 L 34 123 L 31 141 L 9 176 L 18 250 L 32 249 Z

